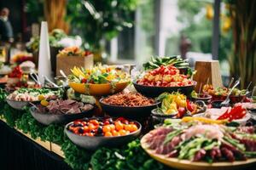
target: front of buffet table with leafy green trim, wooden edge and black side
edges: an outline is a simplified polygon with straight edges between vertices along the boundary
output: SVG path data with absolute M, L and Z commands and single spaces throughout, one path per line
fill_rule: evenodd
M 63 126 L 42 126 L 27 109 L 15 111 L 6 103 L 0 110 L 1 169 L 166 169 L 143 151 L 138 139 L 119 148 L 84 150 L 67 139 Z

